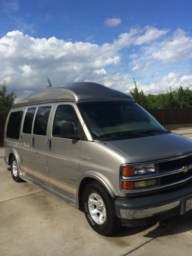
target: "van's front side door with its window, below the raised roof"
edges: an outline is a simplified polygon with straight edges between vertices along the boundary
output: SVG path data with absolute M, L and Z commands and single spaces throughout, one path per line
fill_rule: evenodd
M 81 134 L 82 128 L 74 109 L 74 103 L 57 103 L 54 107 L 53 117 L 48 156 L 50 183 L 76 195 L 81 141 L 63 138 L 60 133 L 62 123 L 71 122 L 74 134 Z

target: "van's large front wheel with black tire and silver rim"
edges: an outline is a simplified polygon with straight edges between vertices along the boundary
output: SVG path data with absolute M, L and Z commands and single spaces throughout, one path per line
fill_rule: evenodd
M 84 188 L 82 201 L 87 221 L 97 233 L 108 236 L 121 227 L 114 199 L 99 182 L 92 182 Z

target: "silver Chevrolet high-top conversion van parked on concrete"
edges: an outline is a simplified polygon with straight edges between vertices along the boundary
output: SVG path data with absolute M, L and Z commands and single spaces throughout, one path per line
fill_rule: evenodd
M 192 141 L 166 131 L 126 94 L 77 82 L 16 98 L 5 162 L 83 210 L 103 235 L 192 208 Z

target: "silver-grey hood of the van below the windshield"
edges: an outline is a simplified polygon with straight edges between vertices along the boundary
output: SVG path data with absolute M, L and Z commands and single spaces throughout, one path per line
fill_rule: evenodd
M 181 156 L 192 152 L 192 141 L 175 133 L 107 141 L 133 163 Z

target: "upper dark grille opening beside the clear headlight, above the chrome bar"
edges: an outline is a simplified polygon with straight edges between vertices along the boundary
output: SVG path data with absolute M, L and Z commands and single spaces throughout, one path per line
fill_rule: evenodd
M 159 173 L 167 172 L 168 170 L 180 169 L 183 166 L 192 164 L 192 156 L 181 159 L 159 163 Z

